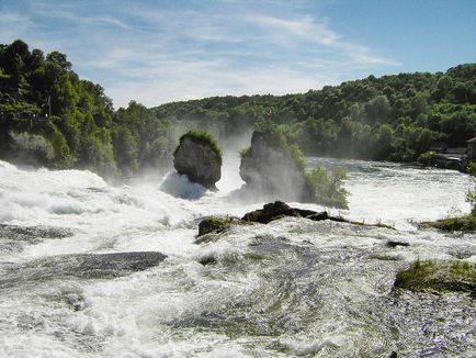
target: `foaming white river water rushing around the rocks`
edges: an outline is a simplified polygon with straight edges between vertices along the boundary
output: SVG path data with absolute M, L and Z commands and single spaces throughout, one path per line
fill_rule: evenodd
M 398 231 L 294 217 L 233 226 L 196 244 L 201 217 L 241 216 L 263 204 L 230 195 L 242 183 L 236 157 L 225 158 L 217 193 L 177 175 L 112 187 L 89 171 L 0 161 L 0 223 L 47 226 L 0 235 L 0 357 L 471 357 L 472 299 L 397 297 L 392 287 L 418 257 L 476 262 L 474 235 L 413 224 L 468 212 L 474 179 L 309 158 L 318 164 L 348 169 L 350 210 L 342 215 Z M 112 277 L 78 264 L 88 257 L 78 254 L 132 251 L 168 258 L 141 271 L 124 261 Z M 214 265 L 200 264 L 211 257 Z

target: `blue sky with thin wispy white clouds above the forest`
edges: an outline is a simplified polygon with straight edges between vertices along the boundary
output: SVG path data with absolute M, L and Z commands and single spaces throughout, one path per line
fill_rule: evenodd
M 116 108 L 476 61 L 474 0 L 0 0 L 0 43 L 67 54 Z

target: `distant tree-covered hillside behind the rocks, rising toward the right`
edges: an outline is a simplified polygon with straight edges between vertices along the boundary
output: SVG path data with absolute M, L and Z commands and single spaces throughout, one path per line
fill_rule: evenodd
M 476 136 L 476 64 L 445 74 L 370 76 L 302 94 L 213 97 L 151 109 L 225 137 L 268 121 L 306 155 L 417 160 L 431 143 Z

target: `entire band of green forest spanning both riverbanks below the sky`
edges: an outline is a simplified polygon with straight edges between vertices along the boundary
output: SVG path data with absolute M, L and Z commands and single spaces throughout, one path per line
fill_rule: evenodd
M 272 90 L 272 89 L 270 89 Z M 53 168 L 104 176 L 167 168 L 182 128 L 219 142 L 276 125 L 306 155 L 413 161 L 434 142 L 462 147 L 476 135 L 476 64 L 445 72 L 370 76 L 286 96 L 213 97 L 115 110 L 67 56 L 0 45 L 0 158 L 33 156 Z

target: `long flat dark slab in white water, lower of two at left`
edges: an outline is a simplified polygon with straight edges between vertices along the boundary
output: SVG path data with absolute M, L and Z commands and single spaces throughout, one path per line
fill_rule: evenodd
M 0 289 L 22 282 L 54 279 L 110 279 L 157 266 L 167 258 L 161 253 L 137 251 L 114 254 L 58 255 L 15 265 L 0 279 Z

